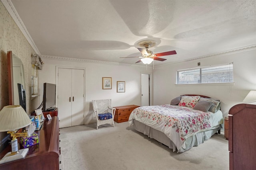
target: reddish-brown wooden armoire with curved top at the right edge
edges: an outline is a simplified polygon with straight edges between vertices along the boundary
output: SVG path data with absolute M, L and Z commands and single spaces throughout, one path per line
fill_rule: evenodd
M 229 110 L 230 170 L 256 169 L 256 105 L 238 104 Z

